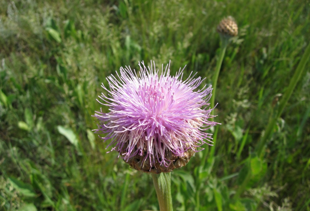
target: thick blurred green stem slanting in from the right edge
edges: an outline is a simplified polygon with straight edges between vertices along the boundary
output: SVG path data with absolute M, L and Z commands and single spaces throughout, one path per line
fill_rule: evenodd
M 257 152 L 257 155 L 259 157 L 261 157 L 263 155 L 264 146 L 265 146 L 268 138 L 270 137 L 270 135 L 272 133 L 272 130 L 274 128 L 274 125 L 277 122 L 277 119 L 280 118 L 280 116 L 283 112 L 283 109 L 286 106 L 287 101 L 290 99 L 290 96 L 292 95 L 294 88 L 295 88 L 297 82 L 299 81 L 299 79 L 303 73 L 303 69 L 304 69 L 309 57 L 310 57 L 310 43 L 308 44 L 308 47 L 306 48 L 306 50 L 303 54 L 303 57 L 301 58 L 298 66 L 297 66 L 297 69 L 295 70 L 295 73 L 294 73 L 294 75 L 290 81 L 290 84 L 289 84 L 288 88 L 286 89 L 286 92 L 284 93 L 284 95 L 283 95 L 283 97 L 279 103 L 277 115 L 275 115 L 274 117 L 272 117 L 270 119 L 270 121 L 266 127 L 265 133 L 259 141 L 259 144 L 256 148 L 256 152 Z

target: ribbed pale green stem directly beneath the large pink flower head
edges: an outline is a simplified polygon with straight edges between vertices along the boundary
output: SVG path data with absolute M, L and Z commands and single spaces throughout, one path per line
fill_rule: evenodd
M 156 190 L 156 195 L 159 203 L 160 211 L 172 211 L 171 197 L 171 172 L 153 174 L 153 184 Z

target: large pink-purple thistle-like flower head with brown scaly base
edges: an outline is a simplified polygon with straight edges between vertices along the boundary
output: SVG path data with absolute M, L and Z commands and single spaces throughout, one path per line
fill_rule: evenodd
M 151 61 L 152 63 L 152 61 Z M 95 133 L 104 133 L 107 146 L 115 145 L 119 156 L 132 168 L 144 172 L 170 172 L 188 163 L 204 143 L 211 145 L 211 135 L 206 129 L 219 124 L 207 108 L 211 86 L 197 91 L 201 77 L 192 73 L 182 81 L 183 70 L 170 76 L 170 63 L 158 74 L 155 63 L 147 68 L 139 63 L 140 73 L 130 67 L 120 68 L 117 77 L 107 78 L 108 95 L 101 93 L 98 102 L 108 106 L 95 112 L 99 120 Z M 185 68 L 185 67 L 184 67 Z M 111 151 L 112 151 L 111 150 Z

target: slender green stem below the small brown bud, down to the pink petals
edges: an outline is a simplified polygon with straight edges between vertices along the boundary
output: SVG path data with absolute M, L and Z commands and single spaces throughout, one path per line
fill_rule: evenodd
M 219 71 L 221 69 L 223 59 L 224 59 L 224 55 L 226 52 L 226 47 L 228 44 L 228 38 L 224 38 L 221 36 L 221 41 L 222 41 L 221 52 L 220 52 L 219 60 L 216 63 L 215 74 L 213 76 L 213 81 L 212 81 L 213 90 L 212 90 L 211 103 L 210 103 L 211 108 L 214 108 L 216 84 L 217 84 L 217 79 L 219 78 Z M 212 110 L 211 114 L 214 114 L 214 110 Z

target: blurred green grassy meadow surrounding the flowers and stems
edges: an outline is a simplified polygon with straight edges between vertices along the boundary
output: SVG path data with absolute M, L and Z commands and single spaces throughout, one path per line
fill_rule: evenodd
M 151 177 L 91 131 L 100 85 L 142 60 L 211 83 L 228 15 L 239 34 L 219 75 L 222 125 L 172 172 L 174 209 L 310 210 L 309 63 L 255 156 L 310 42 L 308 0 L 0 1 L 0 210 L 158 210 Z

